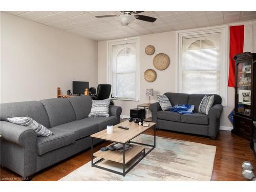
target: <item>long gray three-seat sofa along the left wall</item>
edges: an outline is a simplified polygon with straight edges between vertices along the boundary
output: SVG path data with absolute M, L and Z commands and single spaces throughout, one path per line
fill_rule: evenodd
M 110 117 L 88 117 L 90 96 L 55 98 L 0 105 L 1 165 L 28 177 L 91 146 L 90 135 L 120 122 L 122 109 L 110 105 Z M 52 136 L 37 137 L 34 130 L 7 121 L 31 117 Z M 99 141 L 95 140 L 95 143 Z

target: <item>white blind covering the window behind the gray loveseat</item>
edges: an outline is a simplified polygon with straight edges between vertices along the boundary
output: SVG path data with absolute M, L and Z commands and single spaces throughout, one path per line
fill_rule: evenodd
M 220 94 L 221 34 L 183 36 L 180 92 Z

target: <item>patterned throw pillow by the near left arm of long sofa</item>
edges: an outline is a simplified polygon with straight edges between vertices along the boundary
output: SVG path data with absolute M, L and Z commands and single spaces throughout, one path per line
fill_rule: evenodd
M 28 126 L 35 130 L 37 136 L 51 136 L 52 132 L 48 130 L 44 125 L 36 122 L 35 120 L 31 119 L 30 117 L 12 117 L 7 118 L 8 121 L 14 124 Z

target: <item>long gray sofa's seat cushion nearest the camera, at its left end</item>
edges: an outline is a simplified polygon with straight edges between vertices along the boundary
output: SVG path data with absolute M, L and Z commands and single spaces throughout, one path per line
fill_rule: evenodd
M 69 145 L 75 142 L 74 133 L 60 129 L 50 129 L 53 133 L 50 137 L 37 137 L 37 155 L 42 155 L 56 148 Z

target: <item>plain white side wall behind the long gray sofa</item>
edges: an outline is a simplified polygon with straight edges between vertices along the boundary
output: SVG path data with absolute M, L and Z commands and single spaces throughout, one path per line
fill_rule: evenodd
M 98 42 L 1 12 L 1 102 L 55 98 L 98 84 Z

